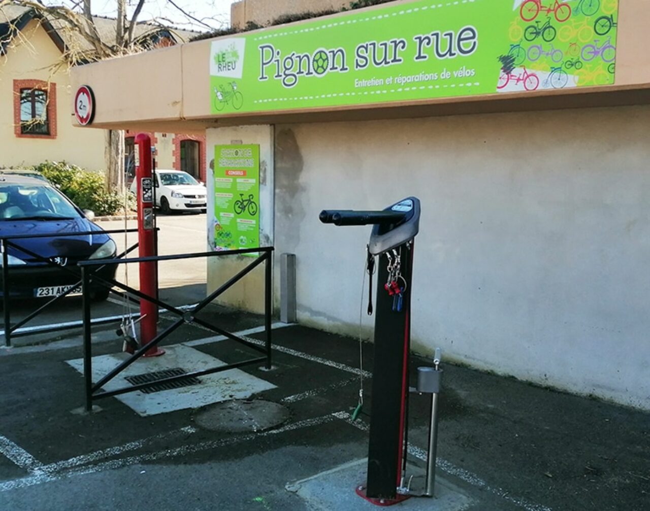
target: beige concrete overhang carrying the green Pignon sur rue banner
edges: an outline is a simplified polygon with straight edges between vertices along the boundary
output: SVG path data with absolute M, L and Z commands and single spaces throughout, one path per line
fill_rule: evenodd
M 612 46 L 615 43 L 615 73 L 614 62 L 605 59 L 604 53 L 602 53 L 603 45 L 606 44 L 604 41 L 607 40 L 606 36 L 599 38 L 597 34 L 592 32 L 592 43 L 595 51 L 588 50 L 587 53 L 584 53 L 583 50 L 582 55 L 580 53 L 577 56 L 574 54 L 573 60 L 580 60 L 580 58 L 584 57 L 590 59 L 594 56 L 603 58 L 604 64 L 601 64 L 603 64 L 604 68 L 608 68 L 611 75 L 610 83 L 606 84 L 589 83 L 590 75 L 593 77 L 595 73 L 603 71 L 603 69 L 595 69 L 591 65 L 591 60 L 582 63 L 585 66 L 585 71 L 582 71 L 581 76 L 588 78 L 586 82 L 583 82 L 584 86 L 564 86 L 562 83 L 563 86 L 556 86 L 552 84 L 553 76 L 557 78 L 565 74 L 564 69 L 566 69 L 566 66 L 562 64 L 566 64 L 566 60 L 571 60 L 568 55 L 564 55 L 566 57 L 564 62 L 559 62 L 562 71 L 556 71 L 555 75 L 552 75 L 553 69 L 556 69 L 553 64 L 546 66 L 545 71 L 543 66 L 535 66 L 535 64 L 531 64 L 528 69 L 526 69 L 525 64 L 523 66 L 511 65 L 508 68 L 508 44 L 510 44 L 511 49 L 517 47 L 517 45 L 525 44 L 528 58 L 531 56 L 530 47 L 539 47 L 541 53 L 548 54 L 553 62 L 556 61 L 556 58 L 554 58 L 552 51 L 556 47 L 565 48 L 562 44 L 571 45 L 571 41 L 567 42 L 566 37 L 562 38 L 564 42 L 561 42 L 560 37 L 558 37 L 557 40 L 547 43 L 543 41 L 541 33 L 538 34 L 539 40 L 534 42 L 527 41 L 528 36 L 526 35 L 520 42 L 515 41 L 513 43 L 512 34 L 515 21 L 524 16 L 523 12 L 520 12 L 523 4 L 515 1 L 516 8 L 513 10 L 513 16 L 517 19 L 508 19 L 510 25 L 507 23 L 504 25 L 506 31 L 510 29 L 511 36 L 509 40 L 504 42 L 504 45 L 501 45 L 501 47 L 505 46 L 503 53 L 508 55 L 501 55 L 499 57 L 501 62 L 498 63 L 500 68 L 508 68 L 508 73 L 512 75 L 512 82 L 508 87 L 499 90 L 500 84 L 497 84 L 497 77 L 500 71 L 497 68 L 494 86 L 489 90 L 484 90 L 482 86 L 479 86 L 478 81 L 472 82 L 470 80 L 467 82 L 465 89 L 458 88 L 447 95 L 436 93 L 426 95 L 425 91 L 424 93 L 407 93 L 404 94 L 404 99 L 395 99 L 397 97 L 396 90 L 402 92 L 403 89 L 406 89 L 408 91 L 411 88 L 409 85 L 412 86 L 413 91 L 416 88 L 424 90 L 425 87 L 434 90 L 434 83 L 440 84 L 442 82 L 435 82 L 434 75 L 430 74 L 425 75 L 430 77 L 430 81 L 422 82 L 422 84 L 418 83 L 417 87 L 409 83 L 395 84 L 395 82 L 392 84 L 393 90 L 387 90 L 391 87 L 385 86 L 382 92 L 388 94 L 389 100 L 386 100 L 381 97 L 379 92 L 374 95 L 374 91 L 372 91 L 373 84 L 379 82 L 374 78 L 365 79 L 368 75 L 362 73 L 359 76 L 364 77 L 363 80 L 356 83 L 357 85 L 361 83 L 361 89 L 365 90 L 363 98 L 350 99 L 350 95 L 361 96 L 362 92 L 358 87 L 353 88 L 352 85 L 348 85 L 348 88 L 345 88 L 344 85 L 341 85 L 343 87 L 341 90 L 346 90 L 346 92 L 339 93 L 341 96 L 339 101 L 332 99 L 331 96 L 337 95 L 330 93 L 332 84 L 339 86 L 339 84 L 343 83 L 343 78 L 346 84 L 354 83 L 354 71 L 357 70 L 359 59 L 361 57 L 369 58 L 368 46 L 365 46 L 365 53 L 363 51 L 359 53 L 359 41 L 369 41 L 374 38 L 374 42 L 377 43 L 378 40 L 383 38 L 387 43 L 385 48 L 402 49 L 404 51 L 402 56 L 407 55 L 408 50 L 406 49 L 409 45 L 415 46 L 417 55 L 424 60 L 424 50 L 433 47 L 436 41 L 445 40 L 448 32 L 444 31 L 447 26 L 443 23 L 444 16 L 432 18 L 435 23 L 431 26 L 438 28 L 442 26 L 443 29 L 440 31 L 417 32 L 417 27 L 413 24 L 406 24 L 404 27 L 395 25 L 396 32 L 389 34 L 389 37 L 383 36 L 387 32 L 385 25 L 377 25 L 377 30 L 372 31 L 372 23 L 378 23 L 378 21 L 374 21 L 375 19 L 381 21 L 382 18 L 385 18 L 385 21 L 388 22 L 391 21 L 392 16 L 398 19 L 400 14 L 409 13 L 416 9 L 422 9 L 417 19 L 425 19 L 426 21 L 428 14 L 425 16 L 422 5 L 426 3 L 415 0 L 389 3 L 384 6 L 362 9 L 352 13 L 344 12 L 333 16 L 246 32 L 246 34 L 201 40 L 79 66 L 73 69 L 72 86 L 73 90 L 75 90 L 78 86 L 85 84 L 94 91 L 96 112 L 92 127 L 168 132 L 179 130 L 201 132 L 208 128 L 231 125 L 357 121 L 647 104 L 650 103 L 650 54 L 645 49 L 645 45 L 650 42 L 647 35 L 647 27 L 650 26 L 650 10 L 647 9 L 645 3 L 645 0 L 627 0 L 620 2 L 618 5 L 616 0 L 609 1 L 609 5 L 617 6 L 616 12 L 607 15 L 607 17 L 611 17 L 612 22 L 615 23 L 614 26 L 616 26 L 615 38 L 610 43 Z M 487 4 L 493 5 L 491 2 L 482 0 L 476 0 L 475 3 L 455 2 L 453 4 L 465 5 L 463 8 L 467 9 L 468 16 L 471 14 L 469 11 L 471 8 L 476 9 Z M 506 4 L 509 3 L 506 2 Z M 452 3 L 448 5 L 452 5 Z M 571 23 L 570 26 L 573 27 L 573 32 L 577 33 L 580 23 L 582 23 L 582 26 L 586 25 L 586 23 L 593 25 L 597 21 L 597 16 L 591 18 L 582 16 L 584 19 L 580 18 L 577 2 L 570 2 L 569 5 L 573 5 L 573 15 L 578 15 L 577 18 L 566 21 L 566 23 Z M 478 12 L 478 14 L 481 13 Z M 528 29 L 531 26 L 539 29 L 539 27 L 553 25 L 554 23 L 558 25 L 555 18 L 552 18 L 552 13 L 547 14 L 539 13 L 537 19 L 530 22 L 519 19 L 522 34 L 525 29 L 526 34 L 532 36 L 532 29 Z M 470 49 L 476 49 L 477 46 L 479 49 L 489 47 L 491 44 L 489 38 L 493 37 L 492 32 L 495 30 L 493 28 L 494 23 L 491 20 L 487 22 L 486 28 L 482 29 L 476 23 L 472 25 L 463 22 L 462 12 L 459 15 L 450 14 L 449 16 L 452 17 L 450 18 L 450 26 L 454 25 L 452 23 L 453 16 L 460 16 L 459 23 L 454 26 L 464 27 L 456 31 L 456 36 L 460 39 L 460 43 L 458 43 L 458 40 L 456 42 L 459 44 L 457 46 L 459 51 L 465 49 L 469 53 Z M 497 16 L 497 14 L 494 16 Z M 366 22 L 367 29 L 359 29 L 362 21 Z M 352 27 L 348 29 L 350 25 Z M 411 28 L 411 25 L 415 28 Z M 339 32 L 330 32 L 330 36 L 324 38 L 320 36 L 319 40 L 318 29 L 322 28 L 324 33 L 326 27 L 329 30 L 337 29 Z M 391 25 L 391 29 L 392 27 L 393 25 Z M 462 32 L 467 27 L 472 27 L 474 30 Z M 348 32 L 344 32 L 346 30 Z M 396 35 L 400 34 L 400 31 L 404 32 L 403 37 Z M 413 36 L 414 33 L 415 36 Z M 568 31 L 564 32 L 564 34 L 568 33 Z M 486 34 L 485 40 L 487 44 L 480 40 L 482 34 Z M 606 35 L 611 38 L 612 34 Z M 515 38 L 519 36 L 519 34 L 514 35 Z M 474 40 L 472 36 L 474 36 Z M 284 48 L 281 44 L 283 38 L 287 39 L 287 45 L 289 45 L 285 45 Z M 315 39 L 311 41 L 309 38 Z M 350 50 L 346 61 L 342 60 L 342 58 L 346 56 L 344 42 L 347 40 L 350 40 Z M 403 41 L 403 43 L 400 41 Z M 448 42 L 451 44 L 450 39 Z M 473 44 L 473 42 L 477 44 Z M 244 44 L 246 44 L 245 49 Z M 311 47 L 309 47 L 310 44 Z M 361 46 L 363 44 L 361 43 Z M 333 76 L 333 73 L 331 73 L 331 79 L 329 74 L 327 76 L 309 77 L 310 72 L 312 75 L 314 73 L 318 75 L 318 68 L 314 63 L 314 58 L 318 56 L 318 51 L 320 51 L 318 45 L 324 50 L 326 56 L 330 56 L 330 70 L 337 70 L 336 66 L 338 66 L 339 73 L 337 73 L 336 77 Z M 323 45 L 326 46 L 323 47 Z M 590 44 L 587 45 L 590 46 Z M 582 44 L 583 48 L 584 46 L 585 44 Z M 306 51 L 301 54 L 300 51 L 287 49 L 290 47 L 305 47 Z M 440 51 L 443 49 L 444 47 L 439 48 Z M 218 51 L 218 54 L 215 51 Z M 432 51 L 437 51 L 437 49 L 433 48 Z M 597 51 L 601 51 L 601 55 L 596 55 Z M 489 60 L 489 65 L 493 65 L 491 60 L 496 61 L 498 56 L 498 54 L 489 54 L 489 59 L 480 57 L 478 56 L 478 49 L 476 54 L 471 56 L 474 61 L 470 61 L 468 58 L 461 62 L 459 58 L 454 58 L 454 65 L 449 64 L 444 68 L 445 70 L 452 69 L 454 66 L 458 68 L 463 62 L 474 62 L 473 68 L 477 69 L 477 73 L 481 73 L 482 67 L 487 66 L 486 62 Z M 233 55 L 237 56 L 237 58 L 241 55 L 242 60 L 245 55 L 247 60 L 242 64 L 244 68 L 243 74 L 242 71 L 239 71 L 238 75 L 236 70 L 234 74 L 229 74 L 233 71 L 233 69 L 229 68 L 231 65 L 229 61 L 234 62 Z M 294 60 L 285 60 L 287 55 L 292 56 Z M 307 55 L 305 59 L 309 57 L 311 60 L 309 60 L 309 63 L 307 63 L 307 60 L 299 62 L 298 57 L 300 55 Z M 255 58 L 257 58 L 257 61 L 255 61 Z M 361 58 L 361 64 L 366 64 L 363 58 Z M 393 55 L 393 58 L 395 60 L 391 64 L 400 63 L 399 55 Z M 404 58 L 404 60 L 408 59 Z M 541 64 L 544 59 L 537 56 L 535 60 L 539 60 Z M 599 59 L 595 58 L 594 60 L 598 61 Z M 221 62 L 226 62 L 226 66 L 223 68 L 225 71 L 223 73 L 220 72 L 221 69 L 214 71 L 214 66 L 220 65 Z M 262 64 L 261 69 L 260 62 Z M 444 63 L 447 62 L 452 61 L 447 60 Z M 506 64 L 503 62 L 506 62 Z M 549 62 L 551 61 L 549 60 Z M 309 87 L 311 88 L 306 88 L 306 92 L 302 92 L 301 95 L 298 86 L 291 85 L 290 81 L 283 79 L 282 69 L 285 64 L 294 66 L 294 71 L 302 69 L 302 76 L 298 73 L 298 78 L 302 78 L 302 83 L 306 84 L 307 77 L 309 77 L 311 79 Z M 386 64 L 386 62 L 384 61 L 383 64 Z M 436 60 L 435 64 L 440 66 L 441 60 Z M 236 65 L 233 64 L 233 66 Z M 344 73 L 341 72 L 341 68 L 345 71 Z M 396 66 L 391 69 L 391 71 L 395 69 L 394 73 L 381 68 L 382 66 L 377 68 L 380 77 L 408 74 L 402 73 L 402 69 Z M 467 66 L 464 65 L 463 68 L 467 68 Z M 414 72 L 419 71 L 417 67 L 409 69 L 414 69 Z M 430 69 L 435 70 L 436 68 L 432 65 Z M 422 73 L 420 74 L 422 75 Z M 545 81 L 546 86 L 537 84 L 526 88 L 524 78 L 526 75 L 523 73 L 536 73 L 541 77 L 541 80 L 538 79 L 538 81 L 540 83 Z M 439 80 L 440 78 L 439 73 L 436 71 L 435 79 Z M 383 81 L 382 78 L 378 80 Z M 233 82 L 239 85 L 239 91 L 247 98 L 244 108 L 237 108 L 237 93 L 239 91 L 231 88 Z M 519 82 L 521 82 L 521 86 Z M 549 82 L 551 82 L 550 85 Z M 383 83 L 385 84 L 385 82 Z M 287 87 L 287 84 L 291 86 Z M 281 87 L 282 85 L 283 87 Z M 305 87 L 307 86 L 305 85 Z M 217 93 L 218 90 L 221 91 L 220 94 Z M 285 93 L 285 97 L 273 98 L 273 101 L 276 101 L 276 103 L 273 103 L 271 99 L 264 97 L 266 90 L 273 90 L 274 93 L 279 90 Z M 370 90 L 370 93 L 368 93 L 368 90 Z M 469 93 L 465 93 L 465 91 Z M 473 93 L 474 91 L 476 93 Z M 395 98 L 391 96 L 391 92 L 395 93 Z M 318 99 L 321 95 L 322 100 L 320 102 L 314 100 L 314 97 Z

